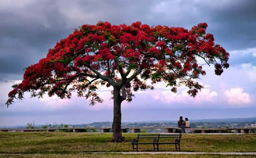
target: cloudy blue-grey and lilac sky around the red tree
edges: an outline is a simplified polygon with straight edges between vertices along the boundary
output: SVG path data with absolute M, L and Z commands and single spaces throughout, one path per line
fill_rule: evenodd
M 205 88 L 195 98 L 184 86 L 174 94 L 160 82 L 122 103 L 123 122 L 256 117 L 256 0 L 1 0 L 0 19 L 0 126 L 113 120 L 109 88 L 98 90 L 104 102 L 94 106 L 76 95 L 38 99 L 29 93 L 4 105 L 24 68 L 44 58 L 75 28 L 98 21 L 186 29 L 206 22 L 207 33 L 230 52 L 230 68 L 221 76 L 213 66 L 204 66 L 206 76 L 198 81 Z

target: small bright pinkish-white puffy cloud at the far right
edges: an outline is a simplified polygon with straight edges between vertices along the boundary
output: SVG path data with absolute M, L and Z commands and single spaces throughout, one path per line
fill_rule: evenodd
M 228 99 L 229 104 L 249 104 L 251 97 L 248 93 L 244 92 L 243 88 L 230 88 L 225 91 L 225 97 Z

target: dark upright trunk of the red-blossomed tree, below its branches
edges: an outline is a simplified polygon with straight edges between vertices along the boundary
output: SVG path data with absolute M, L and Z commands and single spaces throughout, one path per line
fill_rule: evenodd
M 114 120 L 112 125 L 112 140 L 111 142 L 124 142 L 121 131 L 121 103 L 120 88 L 114 87 Z

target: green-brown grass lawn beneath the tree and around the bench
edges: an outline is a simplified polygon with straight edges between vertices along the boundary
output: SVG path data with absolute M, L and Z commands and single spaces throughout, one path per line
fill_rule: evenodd
M 64 133 L 64 132 L 0 132 L 0 154 L 13 155 L 13 158 L 32 155 L 46 158 L 68 157 L 78 153 L 90 152 L 132 152 L 131 141 L 137 134 L 124 133 L 124 143 L 110 143 L 111 134 L 102 133 Z M 141 149 L 143 148 L 143 149 Z M 141 146 L 139 151 L 153 151 L 152 145 Z M 174 152 L 174 145 L 160 146 L 161 152 Z M 256 152 L 256 135 L 183 135 L 182 152 Z M 67 154 L 67 155 L 65 155 Z M 85 157 L 86 155 L 75 155 Z M 93 158 L 147 158 L 149 155 L 88 155 Z M 0 157 L 6 157 L 1 155 Z M 167 158 L 165 155 L 150 156 Z M 209 157 L 209 156 L 208 156 Z M 206 156 L 182 156 L 182 158 L 208 158 Z M 211 156 L 212 158 L 237 158 Z M 177 155 L 168 158 L 181 158 Z M 239 157 L 242 158 L 242 157 Z M 245 157 L 250 158 L 250 157 Z

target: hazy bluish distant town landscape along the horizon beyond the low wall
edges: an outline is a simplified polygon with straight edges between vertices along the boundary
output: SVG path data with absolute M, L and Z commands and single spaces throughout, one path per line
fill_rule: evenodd
M 70 128 L 70 127 L 112 127 L 112 122 L 93 122 L 89 124 L 45 124 L 37 125 L 27 123 L 22 126 L 9 126 L 0 128 Z M 141 122 L 123 122 L 122 127 L 177 127 L 177 121 L 141 121 Z M 190 120 L 191 128 L 235 128 L 235 127 L 256 127 L 256 117 L 253 118 L 229 118 L 229 119 L 203 119 L 203 120 Z M 94 131 L 97 132 L 97 131 Z M 147 129 L 146 132 L 161 132 L 161 129 Z

